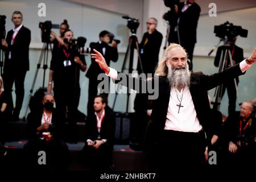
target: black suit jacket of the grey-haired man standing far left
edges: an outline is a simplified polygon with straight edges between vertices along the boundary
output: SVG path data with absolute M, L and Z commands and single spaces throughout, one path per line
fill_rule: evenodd
M 28 53 L 31 41 L 31 32 L 28 28 L 22 26 L 15 37 L 13 45 L 11 45 L 11 38 L 14 31 L 10 30 L 6 36 L 8 48 L 5 50 L 5 67 L 3 71 L 13 70 L 13 67 L 19 68 L 19 71 L 28 71 L 30 68 Z M 11 51 L 11 60 L 9 60 L 9 52 Z

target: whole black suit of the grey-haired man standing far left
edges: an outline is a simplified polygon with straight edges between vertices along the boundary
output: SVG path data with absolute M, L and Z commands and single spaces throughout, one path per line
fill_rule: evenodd
M 14 117 L 18 118 L 24 98 L 24 80 L 26 72 L 29 70 L 28 53 L 31 41 L 31 32 L 28 30 L 28 28 L 22 26 L 18 34 L 15 36 L 13 45 L 11 45 L 13 34 L 13 30 L 10 30 L 7 33 L 6 42 L 8 44 L 8 48 L 3 47 L 5 50 L 3 81 L 5 82 L 5 89 L 8 93 L 11 93 L 13 83 L 15 82 L 16 104 L 14 109 Z M 9 59 L 10 52 L 11 59 Z

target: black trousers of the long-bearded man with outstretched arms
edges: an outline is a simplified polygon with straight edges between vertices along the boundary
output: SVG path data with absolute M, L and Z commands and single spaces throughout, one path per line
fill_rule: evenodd
M 156 146 L 153 169 L 166 171 L 176 166 L 201 166 L 206 164 L 204 152 L 205 133 L 164 130 Z

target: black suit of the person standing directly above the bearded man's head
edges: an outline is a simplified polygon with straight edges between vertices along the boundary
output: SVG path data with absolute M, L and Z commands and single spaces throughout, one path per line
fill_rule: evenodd
M 178 5 L 178 14 L 174 16 L 170 16 L 170 18 L 178 19 L 179 18 L 179 36 L 180 43 L 177 38 L 177 31 L 175 31 L 176 22 L 171 24 L 171 30 L 169 35 L 169 43 L 177 43 L 180 44 L 188 53 L 188 59 L 191 60 L 191 65 L 189 65 L 189 69 L 192 70 L 193 64 L 193 51 L 196 44 L 196 28 L 197 22 L 200 16 L 200 6 L 197 3 L 193 3 L 188 7 L 187 10 L 182 12 L 184 2 L 180 2 Z M 169 20 L 173 22 L 172 19 Z

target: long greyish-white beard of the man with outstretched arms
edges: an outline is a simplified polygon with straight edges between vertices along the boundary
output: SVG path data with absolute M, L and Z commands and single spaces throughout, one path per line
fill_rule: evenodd
M 183 67 L 172 67 L 170 62 L 168 62 L 167 67 L 167 78 L 171 86 L 174 86 L 175 88 L 184 88 L 185 86 L 190 85 L 190 72 L 187 64 Z

